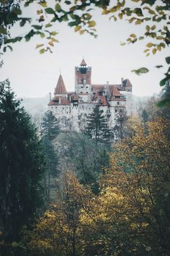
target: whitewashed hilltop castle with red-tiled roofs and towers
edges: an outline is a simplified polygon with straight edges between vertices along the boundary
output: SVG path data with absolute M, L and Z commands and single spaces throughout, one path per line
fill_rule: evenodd
M 115 117 L 121 108 L 130 114 L 130 95 L 132 84 L 128 79 L 122 79 L 119 85 L 91 84 L 91 67 L 84 59 L 75 67 L 75 91 L 67 92 L 63 77 L 59 76 L 54 97 L 48 103 L 48 110 L 60 121 L 61 129 L 75 129 L 79 131 L 86 125 L 86 116 L 96 105 L 107 118 L 109 128 L 115 126 Z

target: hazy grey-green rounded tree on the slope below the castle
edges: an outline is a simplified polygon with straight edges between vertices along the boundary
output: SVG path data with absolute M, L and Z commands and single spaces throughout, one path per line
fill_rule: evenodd
M 109 149 L 99 146 L 83 132 L 63 132 L 58 137 L 61 173 L 68 169 L 84 186 L 99 192 L 99 175 L 109 165 Z

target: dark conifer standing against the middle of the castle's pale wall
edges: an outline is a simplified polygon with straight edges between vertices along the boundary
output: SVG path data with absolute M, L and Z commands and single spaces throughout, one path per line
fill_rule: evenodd
M 95 106 L 92 113 L 87 116 L 86 123 L 86 135 L 89 135 L 96 142 L 109 142 L 111 131 L 107 124 L 107 118 L 99 109 L 99 105 Z

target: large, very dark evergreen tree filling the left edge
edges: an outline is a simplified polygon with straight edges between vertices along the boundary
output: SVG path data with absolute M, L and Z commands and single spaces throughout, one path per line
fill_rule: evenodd
M 4 240 L 19 239 L 42 206 L 44 157 L 30 116 L 9 81 L 0 94 L 0 226 Z

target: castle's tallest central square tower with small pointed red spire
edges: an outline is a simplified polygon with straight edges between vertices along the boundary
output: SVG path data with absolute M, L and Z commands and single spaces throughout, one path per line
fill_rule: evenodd
M 75 92 L 78 95 L 91 93 L 91 67 L 87 66 L 84 59 L 75 67 Z

